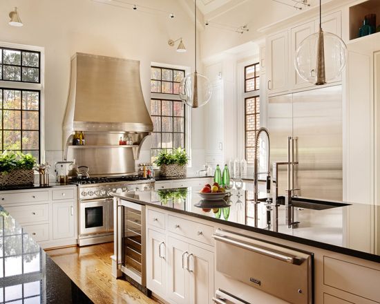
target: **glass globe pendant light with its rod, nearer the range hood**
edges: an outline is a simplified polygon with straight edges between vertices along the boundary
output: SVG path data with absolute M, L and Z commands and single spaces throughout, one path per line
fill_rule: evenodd
M 182 79 L 180 99 L 191 108 L 205 106 L 211 98 L 209 79 L 197 72 L 197 1 L 194 1 L 195 71 Z

